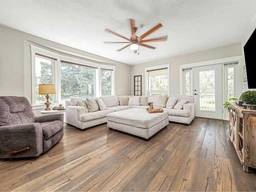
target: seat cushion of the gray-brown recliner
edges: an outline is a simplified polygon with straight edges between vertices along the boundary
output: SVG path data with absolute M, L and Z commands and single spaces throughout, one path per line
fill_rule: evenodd
M 41 123 L 41 127 L 44 140 L 47 140 L 63 129 L 63 123 L 61 121 L 44 122 Z

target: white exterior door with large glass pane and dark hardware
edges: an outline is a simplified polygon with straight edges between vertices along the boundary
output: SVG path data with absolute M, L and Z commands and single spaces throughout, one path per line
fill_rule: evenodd
M 195 115 L 222 119 L 222 64 L 195 67 L 193 77 Z

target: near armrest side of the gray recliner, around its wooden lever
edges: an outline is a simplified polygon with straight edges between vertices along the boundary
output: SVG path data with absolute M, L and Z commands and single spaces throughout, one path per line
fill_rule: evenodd
M 40 123 L 0 126 L 0 158 L 37 157 L 42 153 L 42 129 Z M 29 150 L 11 155 L 16 150 Z

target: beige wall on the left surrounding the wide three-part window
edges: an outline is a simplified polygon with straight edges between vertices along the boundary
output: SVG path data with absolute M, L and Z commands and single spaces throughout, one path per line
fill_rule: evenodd
M 31 102 L 30 45 L 37 44 L 115 65 L 116 95 L 131 93 L 131 66 L 0 25 L 0 95 L 25 96 Z

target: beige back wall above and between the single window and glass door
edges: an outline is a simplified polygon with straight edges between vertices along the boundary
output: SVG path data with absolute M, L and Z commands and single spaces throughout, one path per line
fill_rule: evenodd
M 142 95 L 145 94 L 145 72 L 144 69 L 150 66 L 157 66 L 166 63 L 170 63 L 170 93 L 180 94 L 180 65 L 186 63 L 193 63 L 205 60 L 219 59 L 224 57 L 231 57 L 241 55 L 241 44 L 233 44 L 228 46 L 223 46 L 219 48 L 199 51 L 195 53 L 190 53 L 186 55 L 175 56 L 167 59 L 161 59 L 152 62 L 142 63 L 140 65 L 132 66 L 131 75 L 131 94 L 133 95 L 133 76 L 142 75 Z

